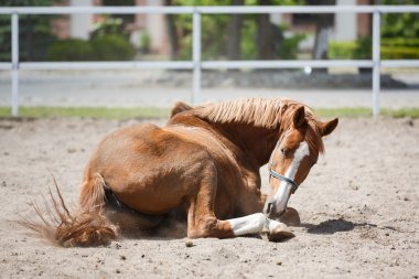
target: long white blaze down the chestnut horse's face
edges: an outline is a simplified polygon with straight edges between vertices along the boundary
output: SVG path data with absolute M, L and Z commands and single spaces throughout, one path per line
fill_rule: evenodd
M 300 146 L 294 152 L 294 158 L 288 167 L 283 176 L 290 180 L 294 180 L 300 163 L 304 157 L 310 154 L 309 144 L 305 141 L 300 142 Z M 282 212 L 287 208 L 287 203 L 291 194 L 292 185 L 286 181 L 281 181 L 277 193 L 273 195 L 273 203 L 277 205 L 277 211 Z

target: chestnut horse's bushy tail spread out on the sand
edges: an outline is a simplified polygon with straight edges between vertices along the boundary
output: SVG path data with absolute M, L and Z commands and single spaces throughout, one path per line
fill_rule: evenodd
M 19 223 L 63 247 L 107 245 L 118 237 L 118 229 L 104 215 L 105 181 L 100 174 L 95 174 L 82 185 L 80 208 L 71 213 L 64 203 L 61 191 L 54 180 L 56 195 L 50 190 L 52 206 L 46 204 L 43 213 L 36 203 L 32 202 L 39 222 L 23 218 Z M 52 208 L 52 210 L 51 210 Z

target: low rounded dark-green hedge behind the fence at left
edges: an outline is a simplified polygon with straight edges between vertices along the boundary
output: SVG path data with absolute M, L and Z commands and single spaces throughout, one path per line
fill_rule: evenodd
M 52 44 L 49 61 L 127 61 L 136 52 L 123 36 L 104 35 L 89 41 L 68 39 Z

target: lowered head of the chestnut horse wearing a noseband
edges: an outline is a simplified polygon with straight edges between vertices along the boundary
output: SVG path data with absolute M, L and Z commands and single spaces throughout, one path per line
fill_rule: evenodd
M 307 117 L 304 106 L 290 114 L 272 151 L 269 162 L 271 202 L 269 217 L 279 217 L 287 208 L 288 200 L 305 180 L 310 169 L 323 151 L 322 137 L 330 135 L 337 126 L 337 118 L 320 122 Z

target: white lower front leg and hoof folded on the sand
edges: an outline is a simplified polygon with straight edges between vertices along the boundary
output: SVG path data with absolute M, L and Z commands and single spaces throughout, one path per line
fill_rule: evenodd
M 234 236 L 267 233 L 271 242 L 294 237 L 286 224 L 270 219 L 262 213 L 255 213 L 239 218 L 227 219 Z

